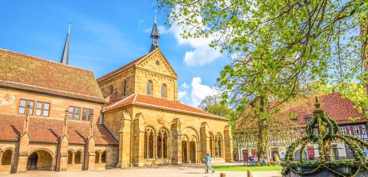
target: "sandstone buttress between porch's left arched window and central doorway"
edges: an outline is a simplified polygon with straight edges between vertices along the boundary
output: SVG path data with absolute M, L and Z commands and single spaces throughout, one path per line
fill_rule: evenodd
M 181 123 L 179 118 L 173 119 L 173 123 L 171 124 L 171 164 L 173 165 L 181 165 Z

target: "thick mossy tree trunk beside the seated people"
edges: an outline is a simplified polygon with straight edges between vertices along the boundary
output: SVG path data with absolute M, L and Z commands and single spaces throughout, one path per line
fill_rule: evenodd
M 259 101 L 259 114 L 266 113 L 268 107 L 268 99 L 261 97 Z M 267 100 L 267 101 L 265 101 Z M 263 154 L 269 157 L 269 122 L 266 118 L 258 116 L 258 141 L 257 141 L 257 157 L 260 159 Z

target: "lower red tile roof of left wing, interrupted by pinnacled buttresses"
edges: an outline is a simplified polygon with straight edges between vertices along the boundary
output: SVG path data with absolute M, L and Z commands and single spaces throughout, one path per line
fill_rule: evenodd
M 0 115 L 0 140 L 19 140 L 23 131 L 24 116 Z M 30 141 L 58 143 L 63 132 L 63 120 L 30 118 Z M 82 122 L 68 122 L 67 135 L 69 143 L 86 144 L 89 135 L 89 124 Z M 96 144 L 118 145 L 117 140 L 100 124 L 93 124 L 93 137 Z

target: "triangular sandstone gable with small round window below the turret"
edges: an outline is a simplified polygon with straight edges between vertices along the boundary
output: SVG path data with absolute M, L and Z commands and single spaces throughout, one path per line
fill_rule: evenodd
M 148 53 L 139 62 L 135 63 L 135 66 L 163 75 L 178 77 L 160 49 L 155 49 L 151 53 Z

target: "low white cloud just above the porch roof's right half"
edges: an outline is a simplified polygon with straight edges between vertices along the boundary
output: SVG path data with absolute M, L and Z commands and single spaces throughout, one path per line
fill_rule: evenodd
M 219 91 L 213 87 L 201 84 L 201 77 L 194 77 L 192 79 L 192 93 L 191 93 L 191 105 L 197 107 L 199 103 L 208 95 L 219 94 Z

